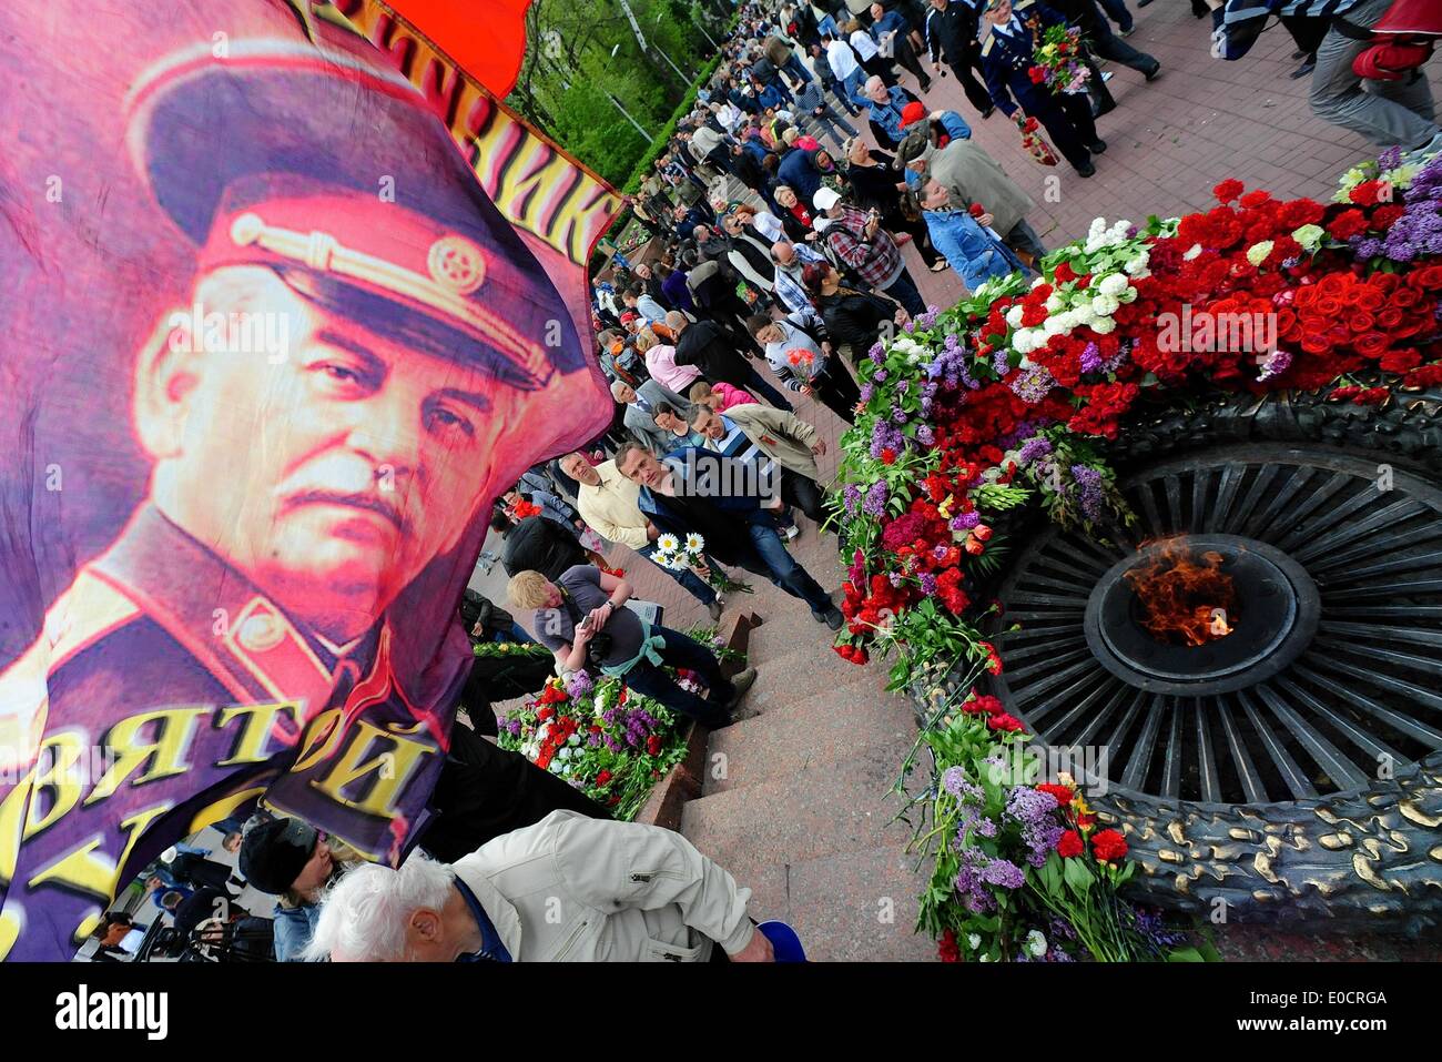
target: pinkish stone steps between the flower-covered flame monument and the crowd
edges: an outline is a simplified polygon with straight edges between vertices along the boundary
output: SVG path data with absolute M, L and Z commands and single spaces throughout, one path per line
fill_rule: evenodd
M 835 538 L 806 525 L 792 548 L 839 586 Z M 930 960 L 911 932 L 924 880 L 904 854 L 890 794 L 916 739 L 908 703 L 885 693 L 883 667 L 829 648 L 809 609 L 757 580 L 737 605 L 764 618 L 750 635 L 758 716 L 709 736 L 702 794 L 681 833 L 753 892 L 753 913 L 780 918 L 818 961 Z

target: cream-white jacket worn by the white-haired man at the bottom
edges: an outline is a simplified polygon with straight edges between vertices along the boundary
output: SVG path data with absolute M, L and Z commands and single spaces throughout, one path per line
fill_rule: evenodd
M 518 962 L 705 962 L 756 932 L 751 890 L 660 827 L 552 811 L 451 869 Z

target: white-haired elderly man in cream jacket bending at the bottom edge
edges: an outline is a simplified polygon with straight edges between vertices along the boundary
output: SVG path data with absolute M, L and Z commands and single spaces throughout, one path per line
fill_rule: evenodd
M 366 864 L 304 955 L 336 962 L 767 962 L 750 889 L 681 834 L 557 811 L 456 863 Z M 720 949 L 720 952 L 718 952 Z

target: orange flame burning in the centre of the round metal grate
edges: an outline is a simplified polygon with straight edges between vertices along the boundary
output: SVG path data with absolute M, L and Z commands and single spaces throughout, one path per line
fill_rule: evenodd
M 1221 571 L 1221 561 L 1216 550 L 1197 557 L 1182 535 L 1122 576 L 1142 606 L 1142 626 L 1152 638 L 1172 645 L 1206 645 L 1236 629 L 1236 587 L 1231 576 Z

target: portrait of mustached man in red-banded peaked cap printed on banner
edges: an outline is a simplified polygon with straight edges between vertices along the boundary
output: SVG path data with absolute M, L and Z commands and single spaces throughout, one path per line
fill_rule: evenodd
M 0 789 L 0 957 L 72 951 L 128 873 L 261 792 L 394 859 L 441 773 L 477 511 L 598 388 L 379 62 L 258 39 L 131 89 L 133 162 L 196 271 L 133 367 L 149 493 L 0 672 L 0 766 L 29 772 Z M 115 758 L 99 778 L 61 769 L 88 747 Z

